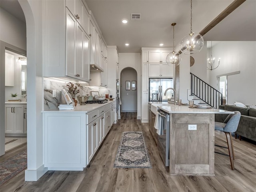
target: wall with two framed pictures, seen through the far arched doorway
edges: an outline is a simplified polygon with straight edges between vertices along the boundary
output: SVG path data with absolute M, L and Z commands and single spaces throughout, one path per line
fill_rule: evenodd
M 130 90 L 126 90 L 126 81 L 130 81 Z M 121 112 L 137 112 L 137 89 L 132 90 L 132 81 L 137 82 L 137 72 L 133 68 L 121 71 Z

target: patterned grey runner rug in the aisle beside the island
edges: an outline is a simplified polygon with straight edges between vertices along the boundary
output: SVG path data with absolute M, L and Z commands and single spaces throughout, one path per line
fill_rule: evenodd
M 114 167 L 151 168 L 142 132 L 123 132 Z

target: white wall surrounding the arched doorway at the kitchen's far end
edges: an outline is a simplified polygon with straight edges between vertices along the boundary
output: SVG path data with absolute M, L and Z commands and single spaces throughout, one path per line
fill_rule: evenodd
M 141 116 L 141 54 L 119 53 L 119 71 L 132 67 L 137 72 L 137 119 Z

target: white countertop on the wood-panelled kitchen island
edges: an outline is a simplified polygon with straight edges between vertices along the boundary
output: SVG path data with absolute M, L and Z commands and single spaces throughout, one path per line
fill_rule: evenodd
M 167 102 L 150 102 L 152 106 L 163 110 L 166 113 L 221 113 L 230 114 L 234 113 L 232 111 L 225 111 L 221 109 L 199 109 L 199 108 L 189 108 L 188 106 L 179 106 L 174 104 L 168 104 Z M 154 108 L 153 107 L 153 108 Z

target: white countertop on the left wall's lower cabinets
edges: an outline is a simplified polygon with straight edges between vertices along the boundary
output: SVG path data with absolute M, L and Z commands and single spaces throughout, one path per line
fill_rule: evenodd
M 86 105 L 80 105 L 80 104 L 77 104 L 77 106 L 74 107 L 74 109 L 71 109 L 71 110 L 58 110 L 58 109 L 54 109 L 54 110 L 45 110 L 45 111 L 42 111 L 43 113 L 45 112 L 78 112 L 78 113 L 88 113 L 88 112 L 91 112 L 93 110 L 96 110 L 102 106 L 105 106 L 107 104 L 110 104 L 114 101 L 108 101 L 104 104 L 86 104 Z

